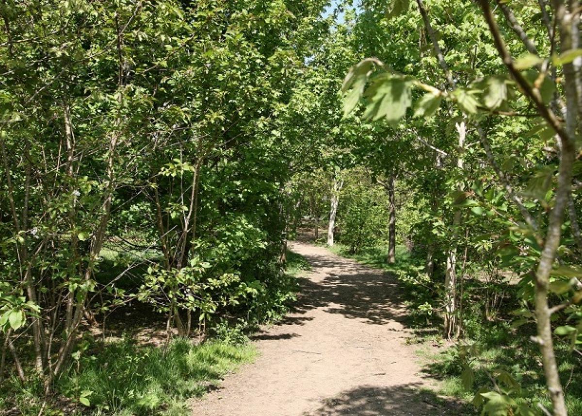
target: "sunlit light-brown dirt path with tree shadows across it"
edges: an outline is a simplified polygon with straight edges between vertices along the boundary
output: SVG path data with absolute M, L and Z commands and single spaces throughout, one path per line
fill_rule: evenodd
M 295 242 L 313 267 L 296 310 L 254 337 L 260 357 L 193 403 L 193 415 L 454 415 L 435 403 L 404 339 L 397 284 L 381 270 Z

